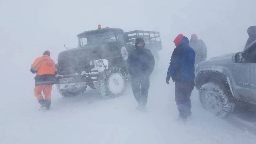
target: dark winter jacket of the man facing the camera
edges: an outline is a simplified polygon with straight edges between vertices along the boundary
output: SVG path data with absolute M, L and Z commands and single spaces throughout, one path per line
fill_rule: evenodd
M 149 77 L 155 67 L 155 59 L 149 49 L 137 47 L 133 50 L 127 60 L 128 70 L 132 77 Z

